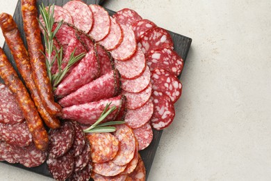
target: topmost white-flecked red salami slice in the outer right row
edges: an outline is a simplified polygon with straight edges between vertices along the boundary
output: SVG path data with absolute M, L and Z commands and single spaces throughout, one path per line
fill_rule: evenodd
M 129 8 L 124 8 L 117 11 L 113 17 L 117 20 L 117 22 L 120 22 L 120 24 L 124 24 L 126 26 L 131 26 L 134 22 L 142 19 L 142 17 L 138 15 L 136 11 Z

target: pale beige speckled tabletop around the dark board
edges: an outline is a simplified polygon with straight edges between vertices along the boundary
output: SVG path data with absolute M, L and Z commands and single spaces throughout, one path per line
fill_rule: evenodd
M 16 1 L 0 12 L 13 13 Z M 193 39 L 149 180 L 271 180 L 271 1 L 110 0 Z M 3 37 L 0 36 L 0 45 Z M 0 180 L 49 180 L 0 164 Z

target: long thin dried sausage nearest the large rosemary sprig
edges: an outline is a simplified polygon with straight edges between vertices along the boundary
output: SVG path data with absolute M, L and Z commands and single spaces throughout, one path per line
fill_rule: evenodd
M 24 21 L 24 33 L 28 45 L 28 53 L 33 69 L 33 77 L 42 104 L 51 115 L 59 115 L 61 112 L 60 105 L 54 102 L 53 89 L 47 75 L 45 57 L 42 54 L 44 48 L 40 36 L 38 24 L 38 10 L 35 0 L 22 0 L 22 19 Z

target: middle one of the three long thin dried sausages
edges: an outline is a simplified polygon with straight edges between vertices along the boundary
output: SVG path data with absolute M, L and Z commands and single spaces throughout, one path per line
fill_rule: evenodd
M 22 74 L 22 77 L 26 82 L 26 86 L 31 93 L 31 97 L 35 102 L 35 106 L 37 107 L 40 116 L 44 120 L 44 123 L 53 129 L 60 127 L 60 121 L 56 117 L 50 116 L 42 104 L 40 95 L 38 94 L 38 89 L 35 86 L 33 79 L 33 72 L 31 69 L 28 52 L 24 47 L 24 42 L 22 41 L 22 38 L 19 34 L 19 29 L 17 28 L 13 17 L 6 13 L 2 13 L 0 15 L 0 26 L 8 47 L 10 48 L 10 52 L 13 54 L 13 58 L 19 73 Z

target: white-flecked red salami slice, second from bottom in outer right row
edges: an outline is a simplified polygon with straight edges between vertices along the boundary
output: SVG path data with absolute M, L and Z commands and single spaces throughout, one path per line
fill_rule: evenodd
M 151 72 L 151 84 L 154 91 L 161 91 L 170 97 L 175 103 L 181 97 L 181 82 L 174 74 L 163 69 Z

